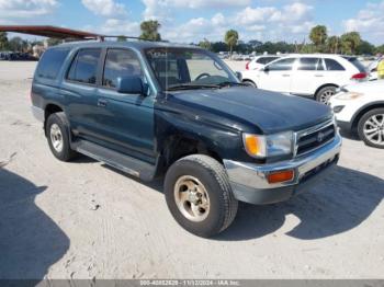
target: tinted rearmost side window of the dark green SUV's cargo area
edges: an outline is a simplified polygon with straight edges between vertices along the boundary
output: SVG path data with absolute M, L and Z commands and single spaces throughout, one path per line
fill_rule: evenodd
M 61 48 L 46 50 L 38 62 L 36 76 L 55 80 L 68 53 L 69 49 Z

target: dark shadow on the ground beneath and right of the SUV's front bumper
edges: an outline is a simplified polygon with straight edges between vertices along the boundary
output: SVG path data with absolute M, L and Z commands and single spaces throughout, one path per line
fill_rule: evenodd
M 336 167 L 312 191 L 289 202 L 269 206 L 240 204 L 233 225 L 214 240 L 261 238 L 279 230 L 287 215 L 300 223 L 286 232 L 303 240 L 320 239 L 351 230 L 362 223 L 382 202 L 384 181 L 359 171 Z

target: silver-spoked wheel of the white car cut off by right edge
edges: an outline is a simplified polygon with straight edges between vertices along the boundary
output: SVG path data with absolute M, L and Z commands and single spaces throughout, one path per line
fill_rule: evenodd
M 384 108 L 365 113 L 359 120 L 358 133 L 366 146 L 384 149 Z

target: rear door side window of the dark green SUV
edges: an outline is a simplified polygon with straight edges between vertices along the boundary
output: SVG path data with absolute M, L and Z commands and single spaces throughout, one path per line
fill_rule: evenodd
M 67 79 L 95 84 L 100 54 L 101 49 L 81 49 L 69 68 Z

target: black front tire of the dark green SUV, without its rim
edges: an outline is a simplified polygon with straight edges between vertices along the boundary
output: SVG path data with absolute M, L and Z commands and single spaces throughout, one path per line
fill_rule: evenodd
M 196 177 L 206 188 L 210 197 L 210 213 L 203 221 L 189 220 L 177 206 L 174 185 L 178 179 L 184 175 Z M 176 221 L 189 232 L 203 238 L 213 237 L 228 228 L 238 208 L 238 202 L 234 197 L 223 164 L 203 154 L 188 156 L 169 168 L 165 180 L 165 195 Z

